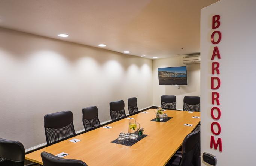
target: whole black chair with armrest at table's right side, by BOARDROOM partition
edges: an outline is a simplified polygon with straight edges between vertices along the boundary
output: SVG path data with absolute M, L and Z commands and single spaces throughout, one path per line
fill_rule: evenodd
M 183 140 L 182 151 L 168 162 L 169 166 L 200 166 L 200 125 Z

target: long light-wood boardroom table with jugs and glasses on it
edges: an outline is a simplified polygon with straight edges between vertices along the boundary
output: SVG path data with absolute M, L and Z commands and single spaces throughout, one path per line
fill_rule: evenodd
M 200 112 L 166 110 L 169 117 L 167 122 L 150 121 L 156 117 L 155 109 L 129 116 L 135 118 L 144 128 L 147 136 L 132 146 L 111 143 L 118 138 L 120 132 L 128 132 L 129 119 L 108 124 L 112 128 L 97 128 L 86 133 L 76 135 L 67 140 L 47 146 L 26 155 L 25 159 L 39 164 L 42 163 L 41 152 L 46 151 L 57 155 L 68 153 L 65 159 L 82 160 L 88 166 L 164 166 L 182 145 L 183 139 L 191 133 L 200 122 Z M 81 118 L 82 123 L 82 118 Z M 184 124 L 192 124 L 185 126 Z M 72 143 L 69 140 L 81 141 Z

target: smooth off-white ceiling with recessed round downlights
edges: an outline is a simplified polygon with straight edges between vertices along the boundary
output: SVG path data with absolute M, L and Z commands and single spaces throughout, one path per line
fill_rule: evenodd
M 0 0 L 0 27 L 166 58 L 200 52 L 200 9 L 217 1 Z

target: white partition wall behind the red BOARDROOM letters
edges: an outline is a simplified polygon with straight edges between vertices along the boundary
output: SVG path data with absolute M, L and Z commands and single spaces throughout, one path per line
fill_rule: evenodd
M 201 10 L 201 153 L 217 157 L 218 166 L 255 166 L 255 71 L 256 1 L 222 0 Z M 211 19 L 220 15 L 222 39 L 218 46 L 221 59 L 221 86 L 210 89 Z M 204 70 L 203 70 L 204 69 Z M 211 91 L 220 93 L 222 152 L 210 149 Z M 217 131 L 217 129 L 216 129 Z M 204 164 L 202 164 L 204 165 Z

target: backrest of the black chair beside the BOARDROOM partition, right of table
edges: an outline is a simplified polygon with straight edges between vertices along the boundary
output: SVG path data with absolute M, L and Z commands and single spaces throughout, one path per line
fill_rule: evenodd
M 195 153 L 198 150 L 198 144 L 200 144 L 200 125 L 183 140 L 180 166 L 188 166 L 196 162 Z

